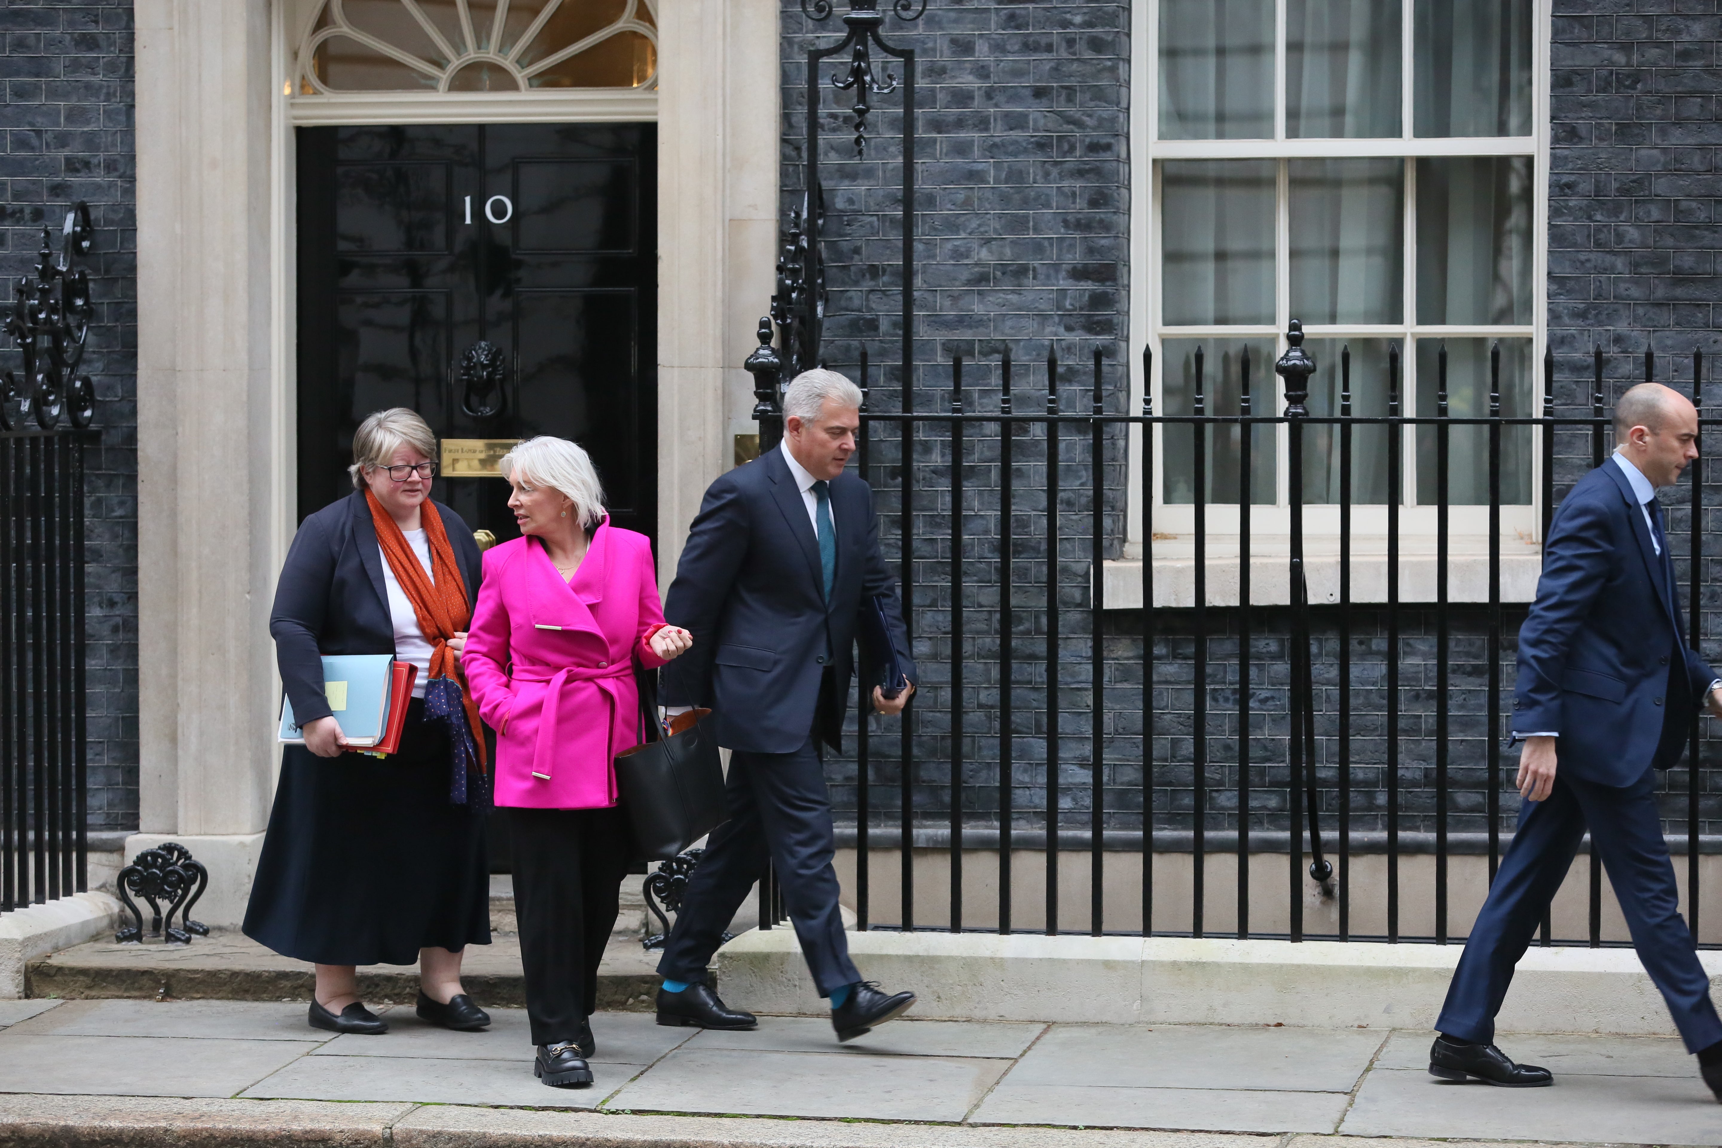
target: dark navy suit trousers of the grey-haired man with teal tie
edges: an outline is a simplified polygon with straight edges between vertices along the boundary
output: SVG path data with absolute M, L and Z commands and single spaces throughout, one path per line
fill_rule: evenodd
M 732 752 L 727 795 L 730 819 L 713 830 L 689 880 L 658 972 L 673 981 L 706 979 L 723 929 L 770 859 L 820 997 L 859 981 L 837 907 L 837 835 L 813 738 L 794 754 Z

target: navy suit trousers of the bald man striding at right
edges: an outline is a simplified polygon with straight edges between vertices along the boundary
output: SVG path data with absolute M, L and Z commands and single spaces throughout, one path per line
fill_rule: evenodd
M 1524 802 L 1519 830 L 1465 940 L 1436 1029 L 1467 1041 L 1495 1040 L 1495 1014 L 1507 997 L 1514 966 L 1589 826 L 1591 849 L 1601 854 L 1608 869 L 1638 959 L 1669 1002 L 1686 1050 L 1722 1041 L 1722 1022 L 1710 1003 L 1710 978 L 1698 964 L 1693 933 L 1681 917 L 1655 787 L 1653 769 L 1627 787 L 1596 785 L 1557 771 L 1546 800 Z

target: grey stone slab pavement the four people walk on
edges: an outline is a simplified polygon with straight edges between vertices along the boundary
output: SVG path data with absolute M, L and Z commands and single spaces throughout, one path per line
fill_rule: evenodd
M 307 1028 L 301 1003 L 0 1002 L 0 1145 L 150 1143 L 138 1133 L 152 1120 L 294 1129 L 307 1143 L 358 1143 L 312 1134 L 356 1120 L 381 1129 L 377 1143 L 425 1145 L 1090 1143 L 1052 1127 L 1202 1133 L 1118 1141 L 1185 1148 L 1298 1134 L 1722 1145 L 1722 1107 L 1663 1038 L 1519 1036 L 1508 1052 L 1557 1084 L 1496 1089 L 1429 1077 L 1429 1034 L 1410 1031 L 899 1021 L 837 1045 L 815 1017 L 703 1033 L 601 1012 L 598 1083 L 551 1089 L 532 1077 L 520 1010 L 494 1009 L 487 1033 L 436 1029 L 406 1007 L 386 1015 L 386 1036 L 329 1036 Z M 641 1126 L 627 1114 L 728 1119 Z M 944 1127 L 923 1139 L 873 1122 Z M 107 1133 L 84 1134 L 93 1124 Z M 250 1141 L 229 1129 L 208 1143 Z

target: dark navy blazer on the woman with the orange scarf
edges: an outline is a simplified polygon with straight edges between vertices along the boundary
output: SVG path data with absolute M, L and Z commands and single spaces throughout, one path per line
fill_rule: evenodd
M 472 602 L 479 590 L 479 544 L 460 515 L 441 503 L 436 508 Z M 394 652 L 382 551 L 363 491 L 353 491 L 300 523 L 276 583 L 269 633 L 276 639 L 281 683 L 300 725 L 329 716 L 324 654 Z

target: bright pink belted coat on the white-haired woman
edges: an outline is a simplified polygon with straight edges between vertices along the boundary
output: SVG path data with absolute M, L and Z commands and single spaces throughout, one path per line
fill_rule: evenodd
M 461 666 L 496 730 L 496 804 L 616 804 L 611 761 L 639 744 L 634 659 L 656 670 L 646 635 L 663 623 L 651 542 L 606 518 L 570 582 L 522 537 L 484 554 Z

